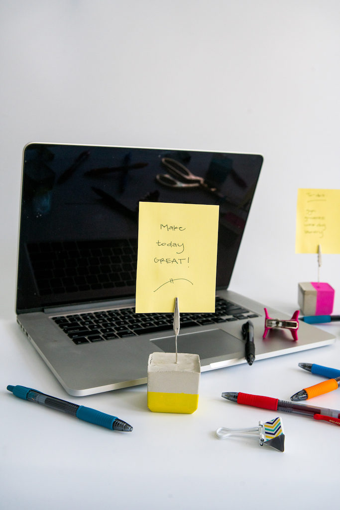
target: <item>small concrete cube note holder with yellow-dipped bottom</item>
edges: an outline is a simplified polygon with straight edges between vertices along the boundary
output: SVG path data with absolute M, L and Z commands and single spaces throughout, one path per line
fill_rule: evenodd
M 153 352 L 148 362 L 147 402 L 155 413 L 191 414 L 198 406 L 198 354 Z

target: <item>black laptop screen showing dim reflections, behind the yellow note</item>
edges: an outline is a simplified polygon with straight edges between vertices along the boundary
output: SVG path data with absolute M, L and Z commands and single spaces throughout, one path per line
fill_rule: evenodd
M 17 313 L 134 297 L 140 201 L 218 204 L 216 284 L 227 288 L 262 162 L 227 152 L 29 144 Z

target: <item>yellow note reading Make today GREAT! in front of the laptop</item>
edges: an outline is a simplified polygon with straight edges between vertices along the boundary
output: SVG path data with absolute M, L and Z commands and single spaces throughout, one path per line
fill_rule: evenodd
M 215 312 L 219 206 L 140 202 L 136 312 Z

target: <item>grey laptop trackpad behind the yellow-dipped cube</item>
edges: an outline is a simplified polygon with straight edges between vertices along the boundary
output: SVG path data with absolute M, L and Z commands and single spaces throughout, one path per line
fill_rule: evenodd
M 152 340 L 152 343 L 164 352 L 175 351 L 175 337 Z M 232 337 L 222 329 L 212 329 L 201 333 L 189 333 L 178 335 L 178 352 L 198 354 L 200 360 L 216 358 L 228 354 L 239 354 L 238 358 L 244 356 L 244 343 L 236 337 Z

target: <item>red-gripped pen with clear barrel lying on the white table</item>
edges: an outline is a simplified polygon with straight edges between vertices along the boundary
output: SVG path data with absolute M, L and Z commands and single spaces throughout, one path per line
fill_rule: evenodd
M 278 398 L 249 395 L 248 393 L 222 393 L 222 397 L 238 404 L 253 405 L 254 407 L 261 407 L 262 409 L 270 409 L 272 411 L 309 416 L 315 420 L 325 420 L 335 425 L 340 425 L 340 411 L 334 409 L 312 407 L 310 405 L 279 400 Z

